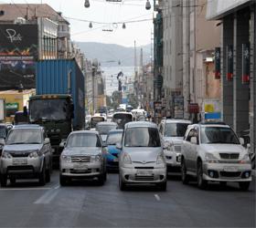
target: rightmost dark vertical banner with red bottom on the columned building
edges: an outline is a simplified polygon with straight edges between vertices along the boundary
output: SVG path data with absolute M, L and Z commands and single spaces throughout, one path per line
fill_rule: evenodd
M 241 83 L 249 84 L 250 82 L 250 44 L 242 44 L 242 75 Z

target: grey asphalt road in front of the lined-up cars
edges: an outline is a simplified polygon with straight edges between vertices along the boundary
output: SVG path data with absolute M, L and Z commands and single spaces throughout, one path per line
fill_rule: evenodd
M 0 189 L 1 227 L 255 227 L 255 180 L 249 192 L 237 184 L 207 191 L 170 178 L 166 192 L 140 186 L 120 192 L 118 174 L 103 186 L 76 181 L 59 186 L 59 172 L 41 187 L 18 181 Z

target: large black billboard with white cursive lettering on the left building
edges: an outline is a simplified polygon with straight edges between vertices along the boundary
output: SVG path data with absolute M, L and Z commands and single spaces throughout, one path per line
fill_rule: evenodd
M 36 87 L 37 25 L 0 25 L 0 90 Z

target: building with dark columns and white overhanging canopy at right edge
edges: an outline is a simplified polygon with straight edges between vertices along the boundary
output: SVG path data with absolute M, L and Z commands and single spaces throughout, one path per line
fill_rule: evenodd
M 256 149 L 256 3 L 208 0 L 209 20 L 220 20 L 222 119 L 240 134 L 250 129 Z

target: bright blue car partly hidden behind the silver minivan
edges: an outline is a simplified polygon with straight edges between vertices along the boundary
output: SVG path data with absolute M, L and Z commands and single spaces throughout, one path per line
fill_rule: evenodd
M 116 148 L 117 143 L 121 143 L 123 136 L 123 130 L 110 130 L 106 144 L 108 146 L 107 154 L 107 170 L 108 171 L 118 171 L 119 170 L 119 161 L 118 157 L 121 150 Z

